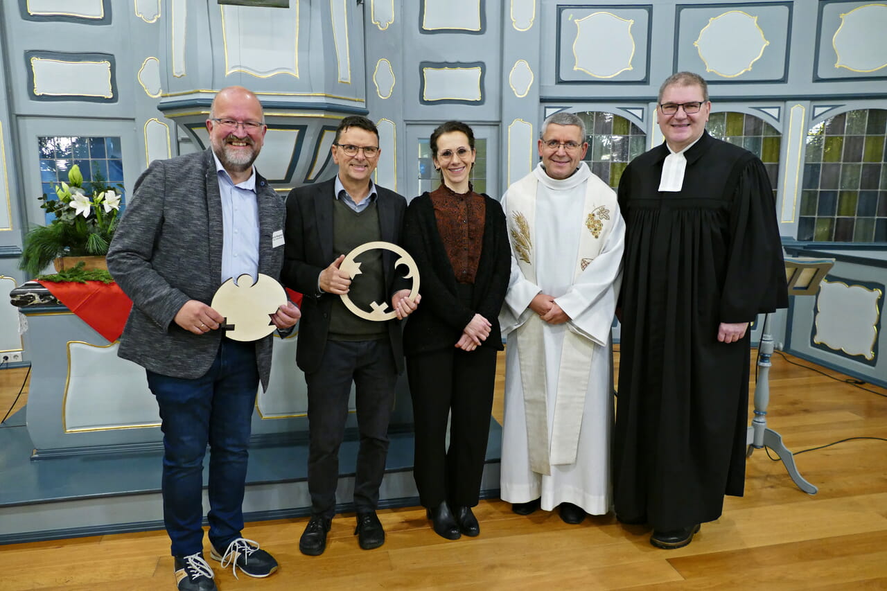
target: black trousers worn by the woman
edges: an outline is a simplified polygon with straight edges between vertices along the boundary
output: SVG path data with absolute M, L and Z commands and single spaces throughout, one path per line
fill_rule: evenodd
M 416 429 L 413 476 L 423 507 L 474 507 L 490 435 L 496 352 L 455 347 L 406 359 Z M 446 448 L 451 414 L 450 448 Z

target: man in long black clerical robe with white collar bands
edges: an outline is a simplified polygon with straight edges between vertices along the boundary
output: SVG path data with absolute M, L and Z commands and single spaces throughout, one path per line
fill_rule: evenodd
M 659 90 L 665 142 L 619 183 L 625 218 L 614 500 L 658 548 L 687 546 L 742 496 L 750 321 L 788 305 L 761 161 L 711 138 L 702 77 Z

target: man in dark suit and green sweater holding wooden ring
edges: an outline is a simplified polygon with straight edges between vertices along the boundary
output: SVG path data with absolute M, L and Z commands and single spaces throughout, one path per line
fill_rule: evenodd
M 375 249 L 358 258 L 360 279 L 351 284 L 339 267 L 350 250 L 365 242 L 400 240 L 406 201 L 374 185 L 379 162 L 379 131 L 365 117 L 342 120 L 332 146 L 338 175 L 318 185 L 294 189 L 287 197 L 287 246 L 284 283 L 304 294 L 296 362 L 308 385 L 310 448 L 308 489 L 311 518 L 299 549 L 318 556 L 326 549 L 326 532 L 335 515 L 339 482 L 339 446 L 348 418 L 351 382 L 357 389 L 360 446 L 354 483 L 358 541 L 361 548 L 380 547 L 385 532 L 376 507 L 388 455 L 388 426 L 397 374 L 404 350 L 399 319 L 415 310 L 419 298 L 407 296 L 395 271 L 394 253 Z M 342 303 L 368 309 L 368 303 L 391 302 L 396 319 L 360 319 Z

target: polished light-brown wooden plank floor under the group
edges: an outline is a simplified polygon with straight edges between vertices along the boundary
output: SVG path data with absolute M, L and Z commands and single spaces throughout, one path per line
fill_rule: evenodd
M 0 371 L 3 413 L 23 377 L 24 370 Z M 793 452 L 845 437 L 887 437 L 883 396 L 778 354 L 770 383 L 769 426 Z M 501 413 L 500 381 L 494 414 Z M 302 556 L 298 540 L 307 519 L 287 519 L 247 524 L 243 532 L 278 558 L 280 570 L 270 579 L 235 580 L 210 562 L 223 591 L 887 588 L 887 442 L 853 440 L 802 453 L 797 466 L 818 494 L 802 493 L 781 462 L 756 451 L 745 497 L 728 498 L 724 515 L 678 550 L 653 548 L 648 531 L 613 516 L 568 525 L 556 513 L 516 516 L 507 503 L 487 500 L 475 509 L 482 528 L 476 539 L 443 540 L 422 509 L 391 509 L 380 512 L 388 539 L 376 550 L 357 547 L 353 516 L 336 516 L 326 553 Z M 162 531 L 0 546 L 4 591 L 174 589 L 172 571 Z

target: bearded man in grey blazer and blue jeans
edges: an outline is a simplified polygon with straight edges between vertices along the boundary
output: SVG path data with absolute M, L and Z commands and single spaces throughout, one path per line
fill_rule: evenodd
M 211 556 L 252 577 L 277 562 L 240 535 L 250 419 L 259 382 L 268 386 L 271 336 L 239 343 L 218 328 L 208 303 L 241 273 L 279 277 L 284 204 L 253 162 L 267 127 L 250 91 L 219 91 L 210 107 L 211 148 L 155 161 L 108 250 L 108 270 L 133 302 L 119 355 L 144 366 L 163 431 L 163 521 L 177 587 L 216 589 L 203 558 L 203 457 L 210 446 Z M 292 327 L 292 303 L 271 315 Z

